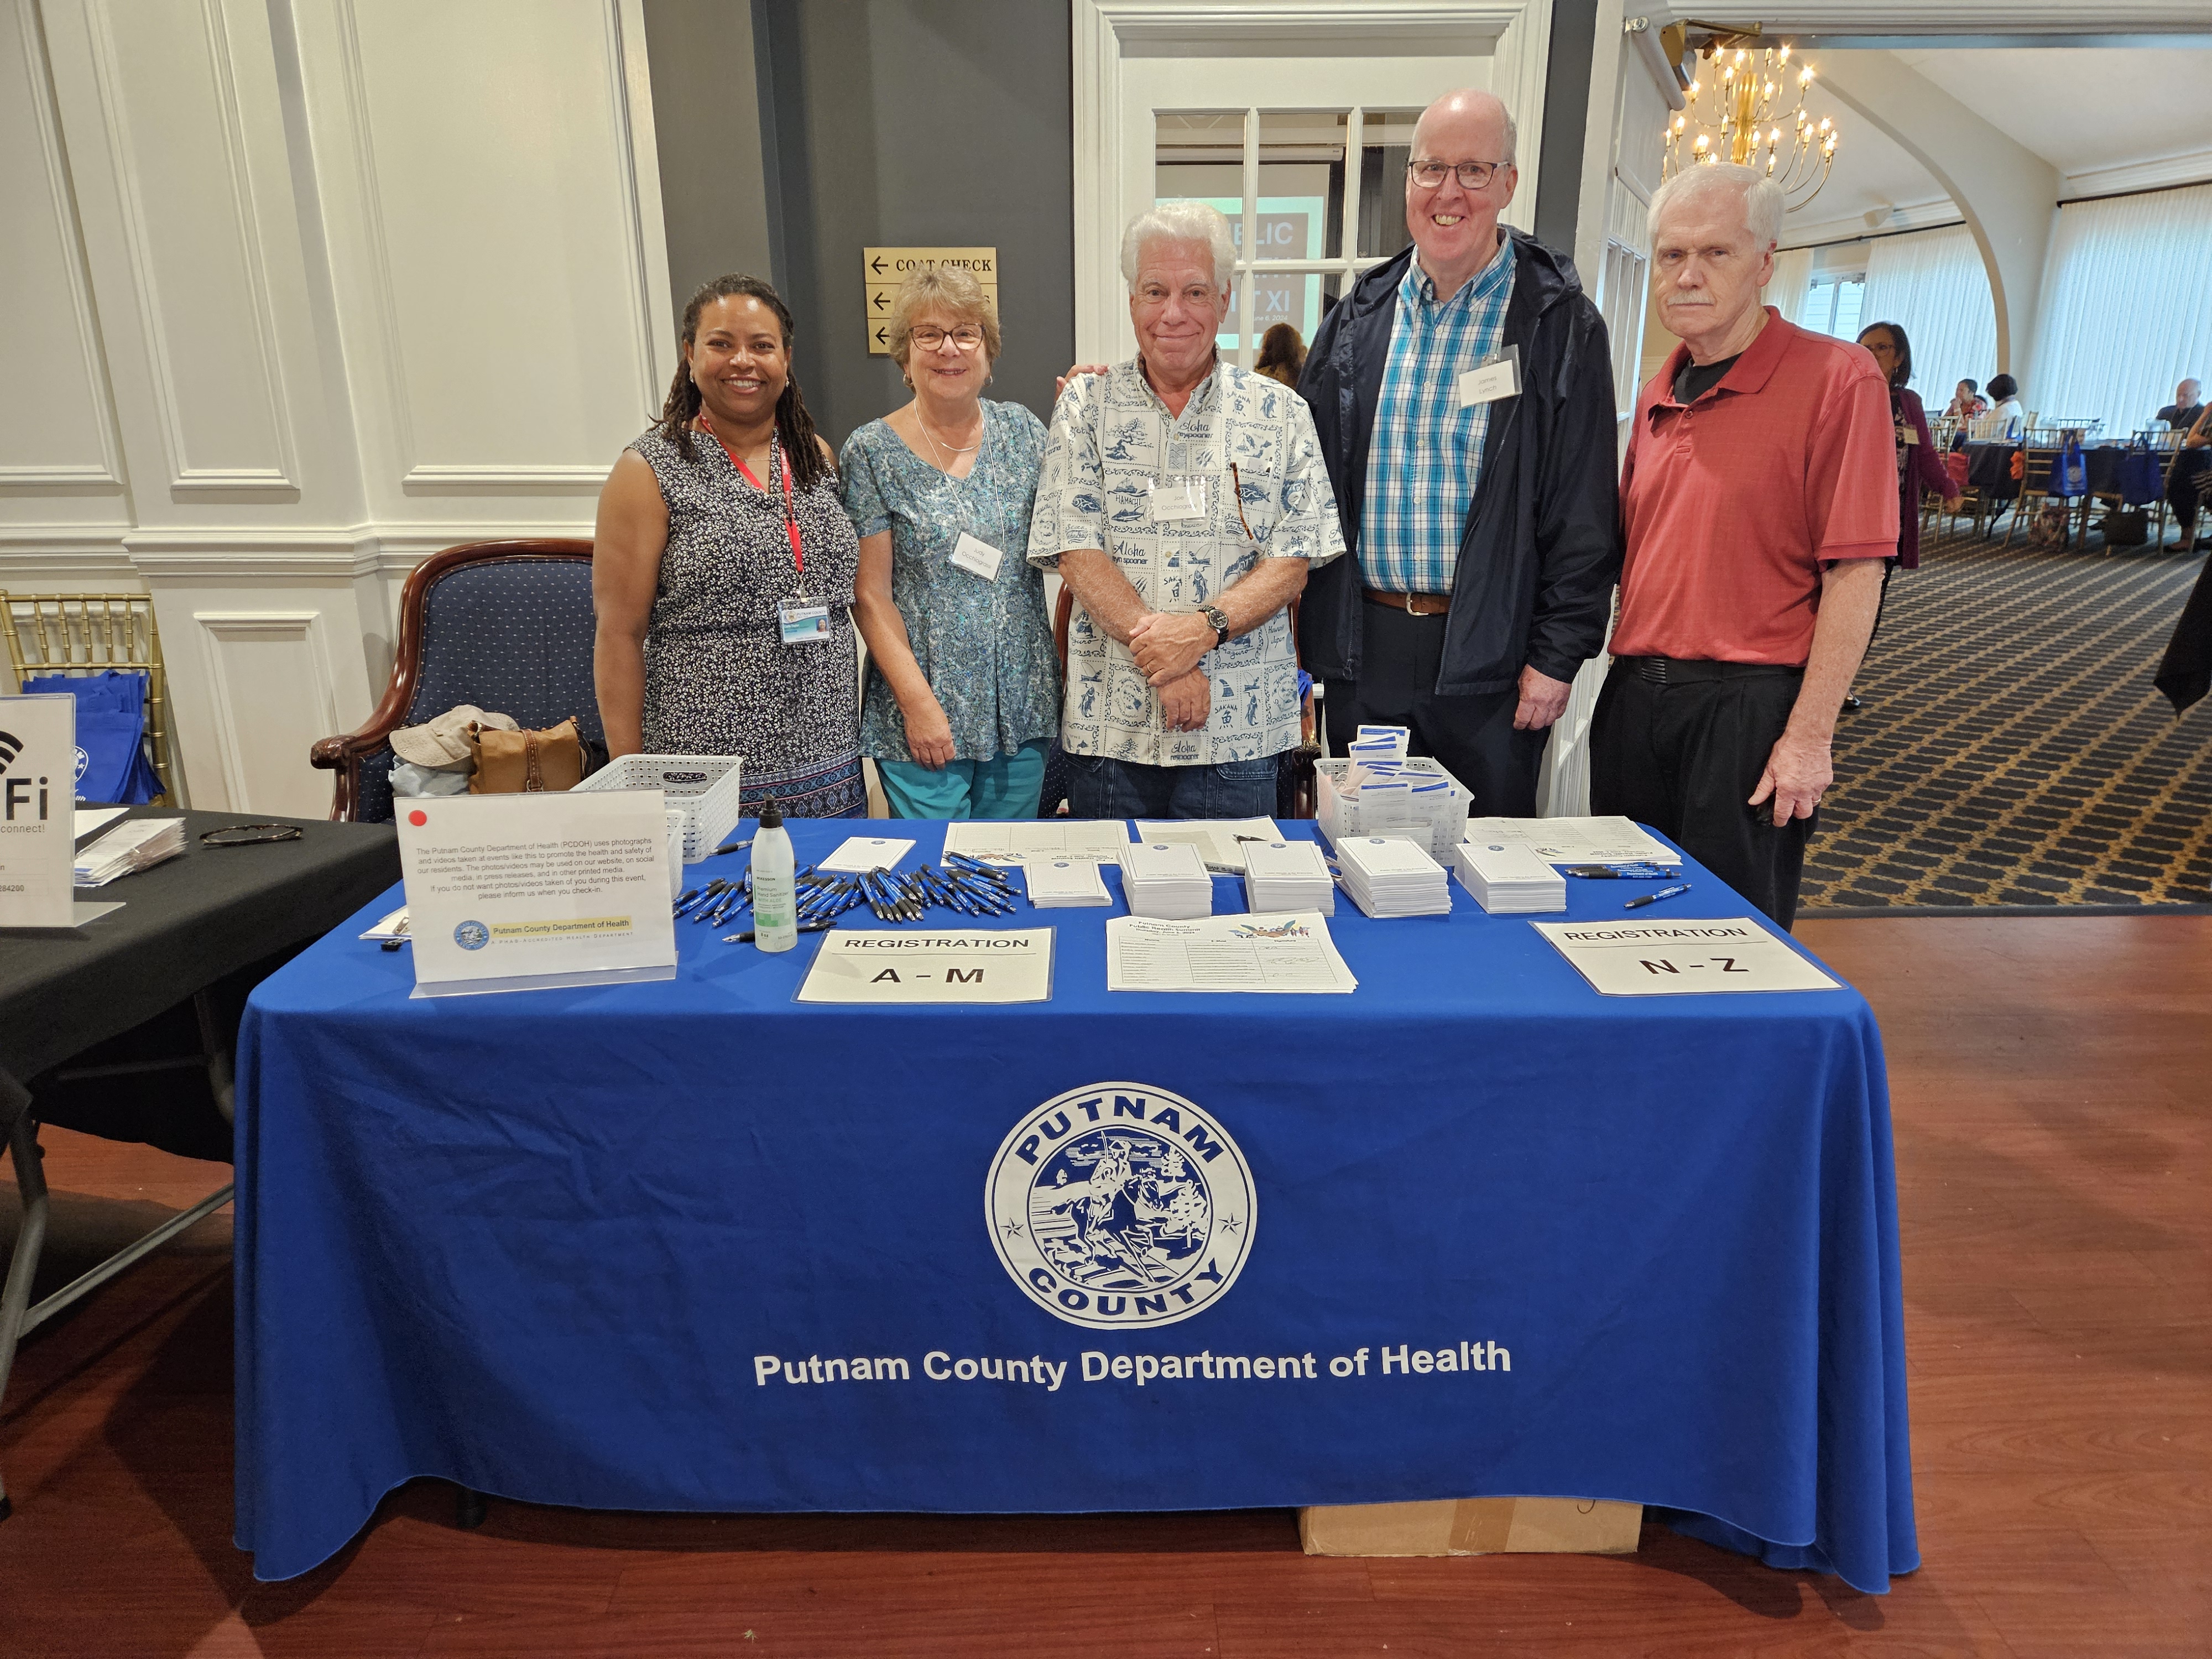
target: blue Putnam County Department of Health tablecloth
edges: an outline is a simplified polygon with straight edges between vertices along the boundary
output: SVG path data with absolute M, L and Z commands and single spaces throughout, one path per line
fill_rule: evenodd
M 801 860 L 849 830 L 792 825 Z M 909 830 L 909 863 L 938 852 Z M 1688 874 L 1639 920 L 1747 911 Z M 1635 891 L 1568 880 L 1577 918 Z M 659 984 L 409 1000 L 352 925 L 265 980 L 237 1113 L 254 1573 L 323 1562 L 416 1475 L 657 1511 L 1615 1498 L 1865 1590 L 1918 1566 L 1856 991 L 1599 998 L 1453 885 L 1449 918 L 1338 905 L 1354 995 L 1108 995 L 1108 914 L 993 922 L 1055 925 L 1055 984 L 984 1011 L 796 1004 L 814 938 L 681 922 Z M 1000 1261 L 1020 1219 L 987 1177 L 1018 1128 L 1053 1157 L 1071 1091 L 1077 1181 L 1124 1159 L 1099 1225 L 1157 1241 L 1177 1323 L 1073 1323 Z

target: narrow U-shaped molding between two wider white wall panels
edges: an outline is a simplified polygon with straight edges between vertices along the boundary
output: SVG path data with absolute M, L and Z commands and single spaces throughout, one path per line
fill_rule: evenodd
M 131 117 L 124 113 L 122 86 L 117 84 L 115 27 L 108 15 L 111 0 L 86 0 L 86 35 L 93 53 L 93 77 L 100 86 L 100 113 L 106 124 L 108 153 L 115 161 L 115 186 L 122 197 L 124 248 L 131 257 L 131 285 L 137 294 L 139 325 L 146 330 L 146 356 L 153 365 L 153 398 L 159 414 L 161 442 L 168 456 L 173 493 L 199 491 L 285 491 L 299 493 L 292 482 L 299 473 L 299 458 L 292 447 L 292 409 L 285 400 L 283 376 L 276 369 L 276 336 L 268 294 L 268 272 L 261 252 L 261 221 L 254 212 L 252 186 L 243 170 L 243 135 L 239 117 L 239 93 L 230 73 L 230 33 L 223 24 L 221 0 L 199 0 L 201 40 L 208 49 L 208 71 L 215 84 L 219 128 L 223 139 L 223 173 L 230 186 L 230 228 L 239 239 L 239 257 L 246 270 L 246 285 L 254 314 L 254 352 L 261 369 L 261 392 L 268 400 L 270 431 L 276 445 L 274 467 L 192 467 L 184 416 L 177 407 L 177 374 L 170 363 L 168 327 L 161 321 L 159 288 L 153 272 L 150 234 L 146 230 L 146 204 L 139 195 L 135 148 L 131 144 Z

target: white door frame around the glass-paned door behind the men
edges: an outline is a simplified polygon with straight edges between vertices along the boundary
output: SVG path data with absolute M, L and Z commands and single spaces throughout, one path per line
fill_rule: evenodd
M 1551 0 L 1068 0 L 1075 33 L 1075 358 L 1119 356 L 1117 254 L 1126 219 L 1126 58 L 1493 58 L 1491 86 L 1520 128 L 1533 221 L 1542 166 Z M 1150 148 L 1150 146 L 1146 146 Z

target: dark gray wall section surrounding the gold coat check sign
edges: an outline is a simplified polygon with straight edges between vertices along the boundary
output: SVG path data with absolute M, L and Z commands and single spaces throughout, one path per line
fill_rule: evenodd
M 1051 416 L 1075 352 L 1068 9 L 763 0 L 757 13 L 781 175 L 770 234 L 816 425 L 843 442 L 909 396 L 863 327 L 860 250 L 885 243 L 1000 250 L 1004 354 L 987 396 Z

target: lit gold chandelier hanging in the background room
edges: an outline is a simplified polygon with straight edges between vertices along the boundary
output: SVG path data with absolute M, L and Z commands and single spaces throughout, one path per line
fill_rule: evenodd
M 1756 33 L 1754 24 L 1734 38 L 1708 38 L 1699 49 L 1703 66 L 1683 86 L 1686 108 L 1666 124 L 1661 177 L 1705 161 L 1736 161 L 1774 179 L 1787 210 L 1796 212 L 1827 184 L 1840 133 L 1829 117 L 1816 122 L 1805 108 L 1812 64 L 1792 66 L 1790 46 L 1734 44 Z M 1796 102 L 1783 108 L 1790 100 Z

